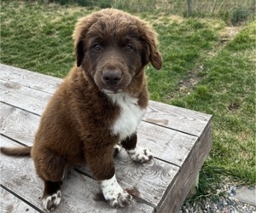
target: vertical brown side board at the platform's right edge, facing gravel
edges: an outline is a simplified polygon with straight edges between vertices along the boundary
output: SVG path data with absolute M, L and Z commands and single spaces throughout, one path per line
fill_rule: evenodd
M 210 153 L 212 147 L 212 118 L 209 120 L 201 137 L 189 153 L 188 158 L 174 177 L 170 188 L 166 190 L 165 199 L 155 208 L 158 213 L 176 213 L 180 210 L 180 204 L 187 198 L 189 190 L 195 181 L 201 166 Z M 188 172 L 190 171 L 190 172 Z M 181 202 L 182 201 L 182 202 Z

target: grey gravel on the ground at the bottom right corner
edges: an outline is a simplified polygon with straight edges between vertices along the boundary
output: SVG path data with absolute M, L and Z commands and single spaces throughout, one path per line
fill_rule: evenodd
M 256 213 L 255 205 L 244 204 L 236 199 L 238 187 L 231 184 L 223 185 L 217 190 L 218 199 L 209 197 L 195 202 L 188 200 L 178 213 Z

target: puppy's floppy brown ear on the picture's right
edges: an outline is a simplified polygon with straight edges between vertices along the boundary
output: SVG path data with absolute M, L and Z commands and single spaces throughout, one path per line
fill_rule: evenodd
M 143 25 L 143 43 L 143 62 L 147 64 L 150 61 L 155 69 L 160 70 L 163 58 L 157 49 L 157 34 L 147 23 Z

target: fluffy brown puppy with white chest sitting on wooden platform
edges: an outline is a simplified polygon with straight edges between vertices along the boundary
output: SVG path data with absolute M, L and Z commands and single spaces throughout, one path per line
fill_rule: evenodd
M 120 144 L 138 162 L 153 158 L 137 147 L 137 124 L 148 106 L 144 66 L 160 69 L 156 33 L 143 20 L 103 9 L 79 20 L 73 33 L 77 66 L 46 107 L 33 147 L 6 148 L 9 155 L 31 154 L 44 180 L 44 210 L 61 201 L 67 166 L 87 164 L 113 207 L 131 201 L 115 178 L 113 147 Z

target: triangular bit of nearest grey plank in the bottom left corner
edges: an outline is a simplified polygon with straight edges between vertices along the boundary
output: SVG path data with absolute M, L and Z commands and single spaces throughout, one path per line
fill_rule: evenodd
M 15 195 L 9 193 L 3 187 L 0 187 L 1 199 L 0 199 L 0 212 L 12 213 L 12 212 L 29 212 L 36 213 L 38 210 L 33 209 L 30 205 L 26 204 L 22 200 L 15 197 Z

